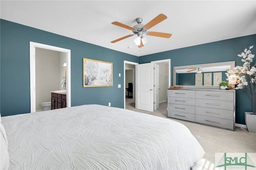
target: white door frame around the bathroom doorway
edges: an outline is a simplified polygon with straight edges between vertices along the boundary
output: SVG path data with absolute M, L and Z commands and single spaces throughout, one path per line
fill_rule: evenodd
M 42 43 L 30 42 L 29 44 L 29 55 L 30 55 L 30 113 L 36 112 L 36 47 L 37 48 L 44 48 L 54 51 L 60 51 L 66 53 L 66 71 L 67 71 L 67 107 L 71 107 L 71 50 L 55 47 L 52 45 L 46 45 Z

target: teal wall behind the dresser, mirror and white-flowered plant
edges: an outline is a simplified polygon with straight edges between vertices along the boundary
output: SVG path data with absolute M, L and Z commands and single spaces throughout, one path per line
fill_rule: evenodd
M 256 54 L 256 34 L 145 55 L 140 57 L 140 64 L 155 60 L 171 59 L 171 71 L 175 66 L 224 61 L 236 61 L 236 66 L 242 66 L 241 58 L 237 54 L 243 52 L 244 48 L 250 45 L 254 45 L 251 51 L 252 54 Z M 254 58 L 254 62 L 256 62 L 256 58 Z M 252 112 L 252 110 L 252 101 L 250 100 L 249 93 L 245 89 L 236 90 L 236 123 L 245 125 L 244 112 Z

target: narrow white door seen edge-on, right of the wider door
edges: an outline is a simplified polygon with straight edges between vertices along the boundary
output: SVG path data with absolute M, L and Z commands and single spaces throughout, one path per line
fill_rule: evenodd
M 159 65 L 154 63 L 154 111 L 159 108 Z

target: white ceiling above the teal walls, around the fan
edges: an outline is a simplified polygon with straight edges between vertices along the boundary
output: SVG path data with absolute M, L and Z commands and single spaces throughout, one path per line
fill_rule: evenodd
M 0 9 L 4 20 L 136 56 L 256 34 L 255 0 L 1 0 Z M 136 18 L 146 24 L 161 13 L 168 18 L 149 31 L 171 38 L 147 36 L 142 49 L 136 36 L 110 43 L 132 34 L 112 22 L 133 27 Z

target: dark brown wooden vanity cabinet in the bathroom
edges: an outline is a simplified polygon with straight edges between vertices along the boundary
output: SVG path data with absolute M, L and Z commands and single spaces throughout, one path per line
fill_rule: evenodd
M 61 93 L 52 93 L 52 109 L 60 109 L 66 107 L 66 95 Z

